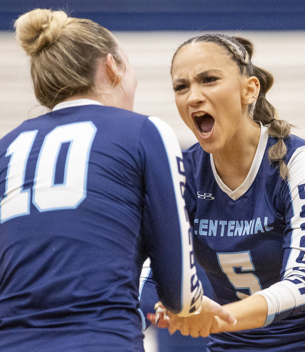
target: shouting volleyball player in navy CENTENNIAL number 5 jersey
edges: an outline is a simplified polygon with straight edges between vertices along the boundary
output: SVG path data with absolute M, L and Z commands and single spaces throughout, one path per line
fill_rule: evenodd
M 169 313 L 169 329 L 198 337 L 209 325 L 211 352 L 304 351 L 305 141 L 267 101 L 273 76 L 252 55 L 248 39 L 205 34 L 172 60 L 176 106 L 198 139 L 183 152 L 194 251 L 237 323 Z

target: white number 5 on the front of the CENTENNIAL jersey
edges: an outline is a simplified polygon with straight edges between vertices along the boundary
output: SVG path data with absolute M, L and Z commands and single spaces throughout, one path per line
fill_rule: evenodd
M 217 259 L 220 269 L 236 289 L 238 298 L 248 297 L 247 294 L 238 290 L 248 290 L 249 294 L 252 295 L 262 289 L 259 278 L 249 272 L 255 270 L 249 251 L 217 253 Z

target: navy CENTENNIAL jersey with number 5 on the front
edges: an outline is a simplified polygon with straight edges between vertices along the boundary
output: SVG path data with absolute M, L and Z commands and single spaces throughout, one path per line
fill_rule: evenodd
M 267 128 L 245 181 L 230 190 L 212 155 L 197 143 L 183 152 L 194 251 L 220 304 L 251 294 L 268 303 L 265 326 L 210 337 L 210 351 L 305 350 L 305 141 L 285 139 L 289 178 L 270 165 Z

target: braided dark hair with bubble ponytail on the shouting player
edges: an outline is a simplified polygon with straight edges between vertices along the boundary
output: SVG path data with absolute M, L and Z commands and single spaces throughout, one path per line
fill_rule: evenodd
M 176 50 L 170 68 L 171 73 L 174 59 L 180 49 L 188 44 L 198 42 L 216 43 L 224 46 L 230 54 L 232 54 L 231 58 L 237 63 L 242 75 L 248 77 L 255 76 L 258 78 L 261 86 L 260 93 L 257 96 L 255 106 L 253 106 L 253 104 L 249 105 L 249 114 L 253 117 L 253 120 L 261 122 L 264 126 L 268 126 L 268 134 L 278 139 L 277 142 L 268 149 L 268 158 L 270 164 L 279 167 L 282 179 L 286 180 L 288 178 L 288 168 L 284 159 L 287 153 L 287 147 L 283 139 L 289 136 L 292 125 L 285 120 L 279 120 L 275 108 L 266 99 L 266 93 L 272 87 L 274 79 L 270 72 L 252 63 L 251 58 L 254 52 L 253 44 L 248 39 L 229 37 L 225 34 L 204 34 L 203 36 L 191 38 L 181 44 Z

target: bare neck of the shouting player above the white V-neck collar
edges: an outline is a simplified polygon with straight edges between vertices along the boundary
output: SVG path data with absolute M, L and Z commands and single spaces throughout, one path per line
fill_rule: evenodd
M 257 150 L 260 139 L 260 125 L 247 119 L 231 139 L 230 144 L 213 153 L 213 160 L 218 176 L 232 191 L 246 179 Z

